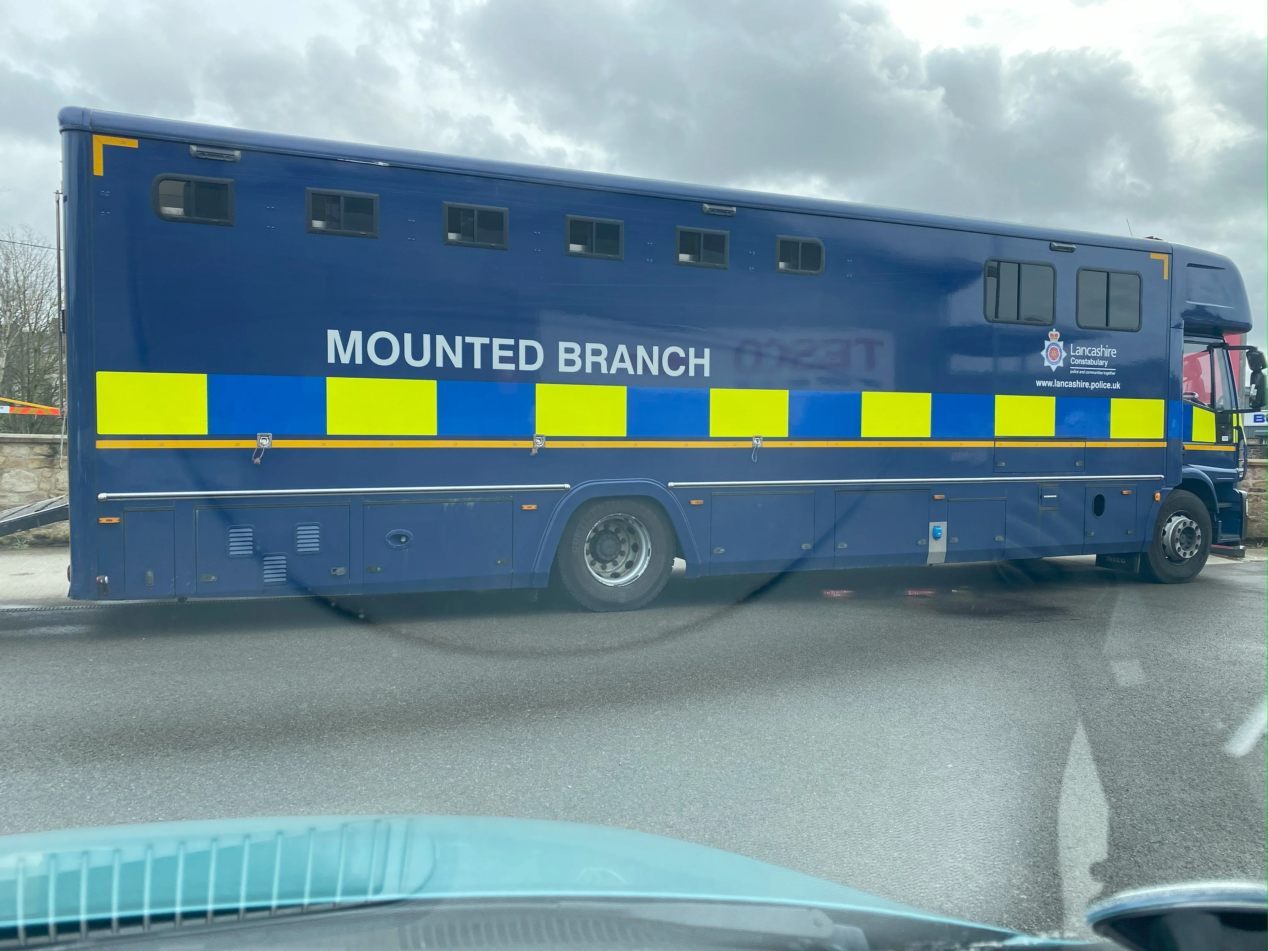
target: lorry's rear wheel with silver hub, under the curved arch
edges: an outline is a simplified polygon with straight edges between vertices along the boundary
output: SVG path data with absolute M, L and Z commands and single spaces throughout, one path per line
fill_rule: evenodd
M 634 611 L 664 587 L 673 535 L 659 508 L 638 498 L 600 498 L 578 508 L 559 540 L 559 577 L 591 611 Z

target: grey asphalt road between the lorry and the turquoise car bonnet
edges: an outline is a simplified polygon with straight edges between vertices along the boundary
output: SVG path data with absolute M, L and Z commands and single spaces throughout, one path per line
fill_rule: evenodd
M 611 615 L 4 611 L 0 832 L 571 819 L 1054 931 L 1102 890 L 1264 877 L 1263 701 L 1263 562 L 1179 587 L 1074 559 L 675 581 Z

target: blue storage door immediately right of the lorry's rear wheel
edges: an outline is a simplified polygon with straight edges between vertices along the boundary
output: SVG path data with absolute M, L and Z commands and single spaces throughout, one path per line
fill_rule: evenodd
M 711 573 L 781 572 L 814 554 L 813 492 L 713 496 Z

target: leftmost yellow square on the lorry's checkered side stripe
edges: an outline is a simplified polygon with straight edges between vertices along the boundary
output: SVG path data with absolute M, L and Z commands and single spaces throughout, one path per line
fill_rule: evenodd
M 207 435 L 207 374 L 96 374 L 96 431 L 129 436 Z

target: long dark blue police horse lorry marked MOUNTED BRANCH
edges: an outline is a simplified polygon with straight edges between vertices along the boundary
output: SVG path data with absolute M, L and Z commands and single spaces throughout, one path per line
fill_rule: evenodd
M 701 577 L 1096 554 L 1181 582 L 1244 538 L 1229 336 L 1250 314 L 1219 255 L 60 123 L 75 598 L 558 572 L 623 610 L 676 557 Z

